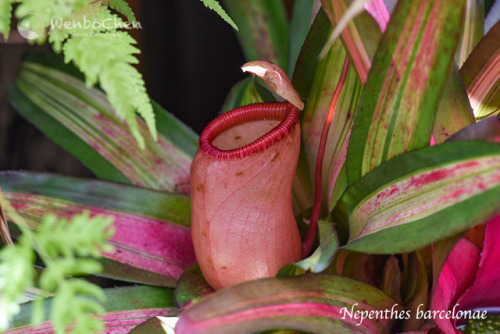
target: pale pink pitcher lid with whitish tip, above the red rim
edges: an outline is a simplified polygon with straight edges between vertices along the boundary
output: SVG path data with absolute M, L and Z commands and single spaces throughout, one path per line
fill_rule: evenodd
M 276 64 L 265 60 L 254 60 L 244 64 L 243 72 L 250 72 L 264 80 L 276 94 L 296 106 L 299 110 L 304 109 L 304 102 L 293 88 L 286 73 Z

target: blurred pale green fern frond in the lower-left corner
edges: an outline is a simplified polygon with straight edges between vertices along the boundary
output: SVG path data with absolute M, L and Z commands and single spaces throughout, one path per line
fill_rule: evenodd
M 91 314 L 104 311 L 99 303 L 104 292 L 87 281 L 67 277 L 102 269 L 95 259 L 77 256 L 98 257 L 101 250 L 111 250 L 106 241 L 114 233 L 112 218 L 84 212 L 68 220 L 49 214 L 32 231 L 1 195 L 0 204 L 23 232 L 15 246 L 0 250 L 0 330 L 18 312 L 23 291 L 34 286 L 35 250 L 46 266 L 39 279 L 42 294 L 55 293 L 50 314 L 56 333 L 65 333 L 67 326 L 73 333 L 102 330 L 102 321 Z M 42 307 L 41 299 L 35 300 L 34 321 L 43 318 Z

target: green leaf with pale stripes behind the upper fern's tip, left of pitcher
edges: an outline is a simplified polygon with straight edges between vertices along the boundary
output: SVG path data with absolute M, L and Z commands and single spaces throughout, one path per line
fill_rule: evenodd
M 196 135 L 157 105 L 158 141 L 147 135 L 146 124 L 136 118 L 146 138 L 142 150 L 101 91 L 88 89 L 59 70 L 26 62 L 9 98 L 24 117 L 100 178 L 189 193 Z

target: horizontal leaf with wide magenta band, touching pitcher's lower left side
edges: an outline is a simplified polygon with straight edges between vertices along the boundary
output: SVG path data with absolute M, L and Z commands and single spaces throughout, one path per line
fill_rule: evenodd
M 32 228 L 48 213 L 71 216 L 88 210 L 114 217 L 112 253 L 103 274 L 174 286 L 196 263 L 189 197 L 103 181 L 39 173 L 0 173 L 5 197 Z

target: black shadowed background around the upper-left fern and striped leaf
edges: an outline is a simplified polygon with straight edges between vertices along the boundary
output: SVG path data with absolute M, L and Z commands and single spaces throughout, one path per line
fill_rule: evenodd
M 150 96 L 196 132 L 213 119 L 230 88 L 245 75 L 236 35 L 199 0 L 129 1 L 143 29 L 133 30 L 142 53 L 139 71 Z M 15 31 L 15 29 L 14 29 Z M 92 177 L 73 158 L 19 116 L 5 90 L 22 55 L 50 52 L 12 34 L 0 43 L 0 170 L 31 170 Z

